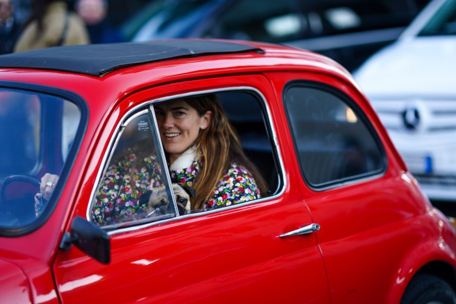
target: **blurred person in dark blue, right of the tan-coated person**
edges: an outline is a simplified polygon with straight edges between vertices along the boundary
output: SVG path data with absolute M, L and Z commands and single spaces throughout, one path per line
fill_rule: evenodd
M 84 20 L 93 44 L 123 42 L 126 39 L 120 30 L 109 24 L 107 20 L 107 0 L 76 0 L 75 10 Z

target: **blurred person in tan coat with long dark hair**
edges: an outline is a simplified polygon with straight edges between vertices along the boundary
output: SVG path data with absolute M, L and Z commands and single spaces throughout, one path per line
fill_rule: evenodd
M 68 10 L 64 0 L 32 0 L 32 14 L 14 52 L 89 43 L 84 21 Z

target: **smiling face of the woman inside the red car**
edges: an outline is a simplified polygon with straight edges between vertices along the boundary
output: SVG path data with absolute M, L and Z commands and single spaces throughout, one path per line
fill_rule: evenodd
M 208 111 L 200 116 L 195 108 L 182 99 L 154 108 L 163 148 L 169 153 L 171 163 L 193 145 L 200 129 L 209 126 L 212 114 Z

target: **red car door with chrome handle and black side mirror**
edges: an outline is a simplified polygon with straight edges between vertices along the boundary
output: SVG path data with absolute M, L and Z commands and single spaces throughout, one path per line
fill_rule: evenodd
M 113 226 L 107 230 L 111 244 L 108 265 L 75 247 L 59 250 L 54 272 L 62 302 L 329 302 L 325 266 L 315 233 L 280 237 L 313 222 L 297 191 L 298 179 L 288 161 L 292 151 L 282 139 L 283 124 L 274 114 L 280 108 L 264 76 L 213 77 L 145 90 L 122 101 L 114 109 L 119 115 L 112 115 L 106 125 L 120 129 L 134 120 L 129 120 L 131 115 L 141 112 L 150 119 L 142 127 L 150 128 L 148 136 L 156 142 L 152 114 L 155 102 L 194 94 L 230 93 L 238 94 L 237 98 L 240 93 L 253 96 L 262 110 L 260 117 L 264 118 L 268 149 L 274 154 L 277 170 L 276 188 L 267 197 L 224 209 Z M 230 98 L 226 100 L 229 107 Z M 235 104 L 236 100 L 231 100 Z M 106 155 L 95 153 L 92 157 L 89 166 L 98 167 L 93 172 L 98 176 L 120 138 L 112 129 L 103 133 L 113 144 Z M 93 195 L 97 186 L 84 188 L 92 188 L 89 191 Z M 86 189 L 78 195 L 72 216 L 86 217 L 89 195 Z

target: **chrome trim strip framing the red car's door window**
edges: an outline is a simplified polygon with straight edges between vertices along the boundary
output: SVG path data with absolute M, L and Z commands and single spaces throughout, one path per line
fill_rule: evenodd
M 246 205 L 257 204 L 257 203 L 269 201 L 269 200 L 278 198 L 281 195 L 283 195 L 283 193 L 285 192 L 285 188 L 287 186 L 287 181 L 285 179 L 284 163 L 283 163 L 283 160 L 282 160 L 282 153 L 281 153 L 281 149 L 279 147 L 279 143 L 278 143 L 278 139 L 277 139 L 276 129 L 275 129 L 275 126 L 272 123 L 272 121 L 273 121 L 272 120 L 272 115 L 271 115 L 268 103 L 266 102 L 266 99 L 264 98 L 264 95 L 261 94 L 261 92 L 258 91 L 255 88 L 252 88 L 250 86 L 233 86 L 233 87 L 230 87 L 230 88 L 220 88 L 220 89 L 212 89 L 212 90 L 204 90 L 204 91 L 195 91 L 195 92 L 191 92 L 191 93 L 177 94 L 177 95 L 172 95 L 172 96 L 168 96 L 168 97 L 158 98 L 158 99 L 154 99 L 154 100 L 151 100 L 151 101 L 148 101 L 148 102 L 144 102 L 141 105 L 138 105 L 138 106 L 132 108 L 123 117 L 126 117 L 126 116 L 130 115 L 130 113 L 132 113 L 134 111 L 137 111 L 139 108 L 150 106 L 150 105 L 153 105 L 155 103 L 163 102 L 163 101 L 166 101 L 166 100 L 177 99 L 177 98 L 185 98 L 185 97 L 189 97 L 189 96 L 202 95 L 202 94 L 214 94 L 214 93 L 223 93 L 223 92 L 231 92 L 231 91 L 247 91 L 247 92 L 251 92 L 251 93 L 256 94 L 259 97 L 259 102 L 262 103 L 262 106 L 264 107 L 264 109 L 266 111 L 266 116 L 267 116 L 267 120 L 268 120 L 267 124 L 268 124 L 268 127 L 269 127 L 268 132 L 270 131 L 270 133 L 271 133 L 271 134 L 269 134 L 269 136 L 271 138 L 272 145 L 273 145 L 272 148 L 274 148 L 276 150 L 275 152 L 277 154 L 277 160 L 279 162 L 279 168 L 278 168 L 278 172 L 277 172 L 278 173 L 278 179 L 279 179 L 278 185 L 282 185 L 282 188 L 279 190 L 279 192 L 276 193 L 275 195 L 267 196 L 267 197 L 264 197 L 264 198 L 259 198 L 259 199 L 248 201 L 248 202 L 241 203 L 241 204 L 235 204 L 235 205 L 231 205 L 231 206 L 226 206 L 226 207 L 219 208 L 219 209 L 212 209 L 212 210 L 208 210 L 208 211 L 204 211 L 204 212 L 200 212 L 200 213 L 180 215 L 180 216 L 176 216 L 175 218 L 172 218 L 172 219 L 167 219 L 167 220 L 158 221 L 158 222 L 150 222 L 150 223 L 146 223 L 146 224 L 143 224 L 143 225 L 134 225 L 134 226 L 131 226 L 131 227 L 125 227 L 125 228 L 120 228 L 120 229 L 117 229 L 117 230 L 108 231 L 107 232 L 108 235 L 115 235 L 115 234 L 120 234 L 120 233 L 125 233 L 125 232 L 136 231 L 136 230 L 140 230 L 140 229 L 144 229 L 144 228 L 148 228 L 148 227 L 151 227 L 151 226 L 164 224 L 164 223 L 168 223 L 168 222 L 184 220 L 184 219 L 189 219 L 189 218 L 195 218 L 197 216 L 199 217 L 199 216 L 202 216 L 202 215 L 212 214 L 212 213 L 216 213 L 216 212 L 220 212 L 220 211 L 224 211 L 224 210 L 231 210 L 233 208 L 238 208 L 238 207 L 242 207 L 242 206 L 246 206 Z M 147 112 L 148 110 L 149 109 L 144 110 L 144 111 Z M 140 113 L 144 114 L 143 113 L 144 111 L 141 111 Z M 134 115 L 134 117 L 136 117 L 136 116 L 137 115 Z M 125 121 L 125 122 L 127 122 L 127 121 Z M 119 126 L 117 127 L 117 129 L 119 130 L 121 127 L 124 127 L 124 126 L 125 126 L 125 123 L 120 123 Z M 122 130 L 120 130 L 120 132 L 121 131 Z M 119 131 L 117 131 L 117 132 L 119 132 Z M 116 139 L 114 144 L 117 145 L 117 141 L 118 141 L 119 138 L 120 138 L 120 134 L 113 136 L 113 138 L 111 138 L 111 143 L 114 142 L 114 139 Z M 105 155 L 103 156 L 103 164 L 104 164 L 104 166 L 106 166 L 106 164 L 107 164 L 107 162 L 106 162 L 106 159 L 108 158 L 107 154 L 109 154 L 109 161 L 110 161 L 110 158 L 112 157 L 112 154 L 114 152 L 115 146 L 113 144 L 110 144 L 109 147 L 110 147 L 109 150 L 107 150 L 105 152 Z M 98 183 L 100 182 L 101 177 L 104 176 L 104 174 L 105 174 L 105 172 L 102 172 L 102 171 L 105 171 L 104 167 L 103 167 L 103 169 L 100 169 L 99 172 L 98 172 L 97 180 L 96 180 L 97 183 L 95 184 L 95 187 L 92 190 L 92 195 L 90 196 L 90 202 L 92 202 L 92 200 L 94 199 L 95 193 L 98 190 Z M 89 210 L 90 210 L 90 206 L 91 205 L 92 205 L 92 203 L 90 203 L 88 205 L 88 208 L 87 208 L 87 212 L 86 212 L 87 221 L 90 221 Z M 115 225 L 108 225 L 108 226 L 104 226 L 103 228 L 112 229 L 112 228 L 115 228 Z

